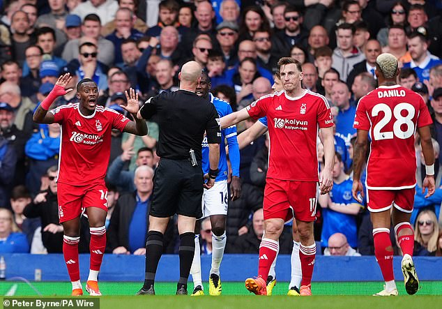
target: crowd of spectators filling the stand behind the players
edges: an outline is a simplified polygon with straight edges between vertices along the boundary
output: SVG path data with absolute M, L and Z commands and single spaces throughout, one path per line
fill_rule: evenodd
M 0 253 L 61 253 L 56 175 L 60 126 L 32 121 L 36 106 L 63 73 L 70 87 L 85 77 L 98 103 L 124 113 L 124 91 L 140 102 L 178 89 L 183 63 L 197 61 L 211 92 L 239 110 L 271 93 L 277 61 L 302 64 L 306 89 L 321 93 L 335 116 L 335 186 L 319 199 L 315 239 L 325 255 L 373 255 L 365 202 L 351 197 L 353 118 L 358 100 L 376 88 L 376 57 L 397 56 L 398 83 L 422 95 L 432 112 L 436 193 L 420 192 L 425 162 L 416 143 L 416 255 L 442 255 L 442 3 L 436 0 L 0 0 Z M 77 103 L 75 91 L 52 107 Z M 197 111 L 195 111 L 197 112 Z M 157 119 L 148 135 L 112 132 L 107 173 L 107 252 L 144 255 Z M 241 132 L 253 121 L 238 125 Z M 323 149 L 318 142 L 322 165 Z M 107 158 L 103 158 L 107 160 Z M 265 136 L 241 150 L 242 196 L 229 202 L 227 253 L 257 253 L 268 163 Z M 93 167 L 91 167 L 93 169 Z M 388 171 L 386 171 L 388 172 Z M 89 250 L 82 218 L 81 253 Z M 394 233 L 393 243 L 396 243 Z M 165 253 L 177 253 L 173 221 Z M 202 254 L 211 254 L 211 225 L 201 224 Z M 291 251 L 284 227 L 280 253 Z M 399 246 L 395 246 L 399 253 Z

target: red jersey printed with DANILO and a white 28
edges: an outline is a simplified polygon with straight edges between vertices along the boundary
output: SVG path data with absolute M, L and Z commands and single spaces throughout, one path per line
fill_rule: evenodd
M 418 93 L 399 85 L 379 86 L 359 100 L 353 127 L 372 140 L 366 186 L 399 190 L 416 185 L 416 128 L 432 124 Z

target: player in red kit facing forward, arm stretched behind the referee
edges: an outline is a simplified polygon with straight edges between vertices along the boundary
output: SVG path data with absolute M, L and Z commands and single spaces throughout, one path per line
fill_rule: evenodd
M 313 222 L 316 218 L 317 184 L 321 194 L 333 187 L 335 145 L 333 116 L 326 98 L 301 88 L 303 72 L 299 61 L 284 57 L 278 61 L 284 91 L 263 96 L 247 108 L 222 117 L 227 128 L 249 118 L 267 116 L 270 149 L 264 190 L 265 234 L 259 248 L 259 276 L 248 278 L 245 287 L 266 295 L 266 278 L 279 250 L 278 239 L 284 222 L 294 213 L 300 236 L 302 280 L 300 295 L 311 295 L 310 282 L 316 245 Z M 317 136 L 321 128 L 326 165 L 318 176 Z

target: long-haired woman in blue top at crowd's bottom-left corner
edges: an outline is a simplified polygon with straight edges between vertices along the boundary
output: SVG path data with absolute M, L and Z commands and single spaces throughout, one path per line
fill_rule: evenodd
M 3 206 L 3 205 L 0 205 Z M 26 235 L 18 232 L 9 209 L 0 209 L 0 253 L 28 253 Z

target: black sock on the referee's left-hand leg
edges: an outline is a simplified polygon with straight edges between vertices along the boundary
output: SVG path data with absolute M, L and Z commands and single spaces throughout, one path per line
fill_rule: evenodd
M 146 241 L 146 274 L 144 277 L 144 289 L 150 289 L 155 281 L 158 262 L 162 255 L 163 234 L 158 231 L 149 231 Z M 190 261 L 192 263 L 192 261 Z

